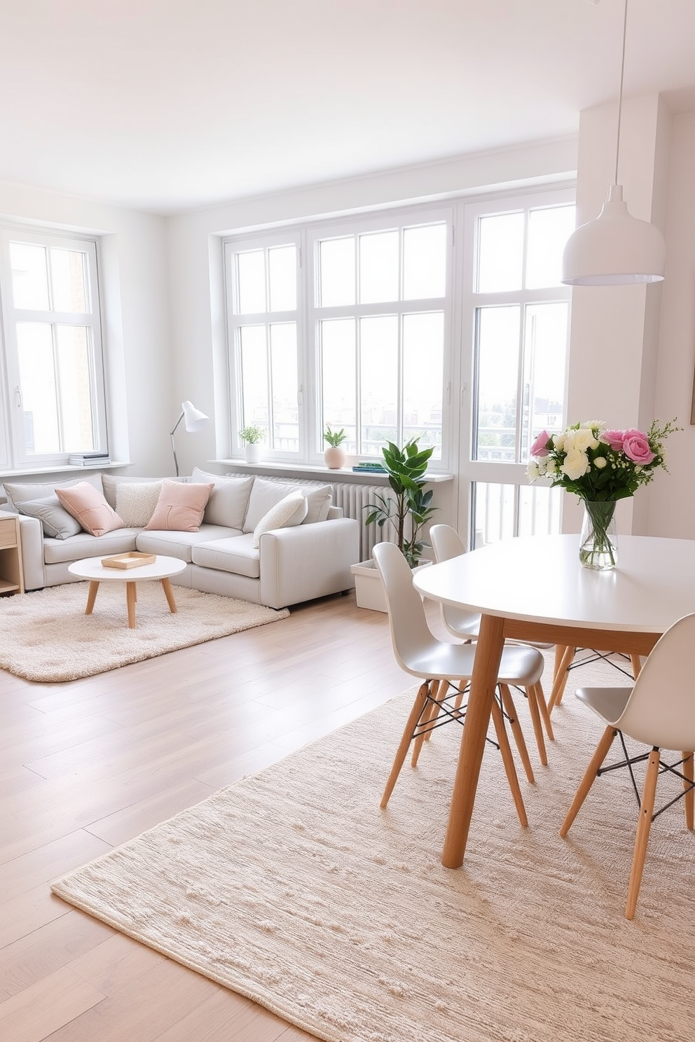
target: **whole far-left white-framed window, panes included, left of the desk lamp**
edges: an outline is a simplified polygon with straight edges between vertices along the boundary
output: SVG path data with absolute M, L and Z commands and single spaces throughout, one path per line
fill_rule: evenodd
M 4 465 L 107 451 L 96 241 L 20 227 L 1 241 Z

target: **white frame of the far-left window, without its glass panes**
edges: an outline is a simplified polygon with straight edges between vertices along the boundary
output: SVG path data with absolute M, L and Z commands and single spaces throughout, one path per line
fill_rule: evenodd
M 55 469 L 68 465 L 72 452 L 81 451 L 78 446 L 59 452 L 28 452 L 25 436 L 24 408 L 22 404 L 20 358 L 17 341 L 17 324 L 39 322 L 51 327 L 59 324 L 88 328 L 88 350 L 90 356 L 90 398 L 92 403 L 93 450 L 108 451 L 106 388 L 104 345 L 101 323 L 101 294 L 99 287 L 99 241 L 93 235 L 58 229 L 27 228 L 19 224 L 3 224 L 0 234 L 0 305 L 2 311 L 2 356 L 0 374 L 0 412 L 5 415 L 0 427 L 4 433 L 3 466 L 7 469 Z M 85 256 L 86 292 L 90 299 L 89 312 L 38 311 L 15 306 L 13 273 L 9 256 L 10 243 L 27 243 L 47 249 L 59 248 L 83 252 Z

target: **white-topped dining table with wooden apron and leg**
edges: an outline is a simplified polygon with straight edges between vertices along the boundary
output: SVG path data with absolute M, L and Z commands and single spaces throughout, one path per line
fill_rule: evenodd
M 481 615 L 442 863 L 464 861 L 505 638 L 649 654 L 695 612 L 695 541 L 620 536 L 618 565 L 582 568 L 578 536 L 491 543 L 414 575 L 425 597 Z

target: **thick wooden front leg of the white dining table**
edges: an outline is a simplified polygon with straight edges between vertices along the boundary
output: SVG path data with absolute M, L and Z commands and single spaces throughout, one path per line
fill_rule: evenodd
M 499 663 L 502 658 L 503 634 L 504 619 L 492 615 L 481 617 L 471 690 L 468 696 L 466 725 L 463 729 L 449 808 L 449 820 L 442 851 L 442 864 L 445 868 L 460 868 L 466 853 L 466 842 L 473 815 L 482 750 L 495 697 Z

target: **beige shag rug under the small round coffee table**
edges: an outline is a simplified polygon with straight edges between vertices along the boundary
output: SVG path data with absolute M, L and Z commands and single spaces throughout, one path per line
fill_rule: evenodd
M 135 628 L 125 587 L 102 582 L 84 615 L 88 582 L 68 582 L 0 599 L 0 668 L 27 680 L 75 680 L 217 637 L 284 619 L 287 609 L 174 586 L 176 613 L 159 582 L 138 585 Z

